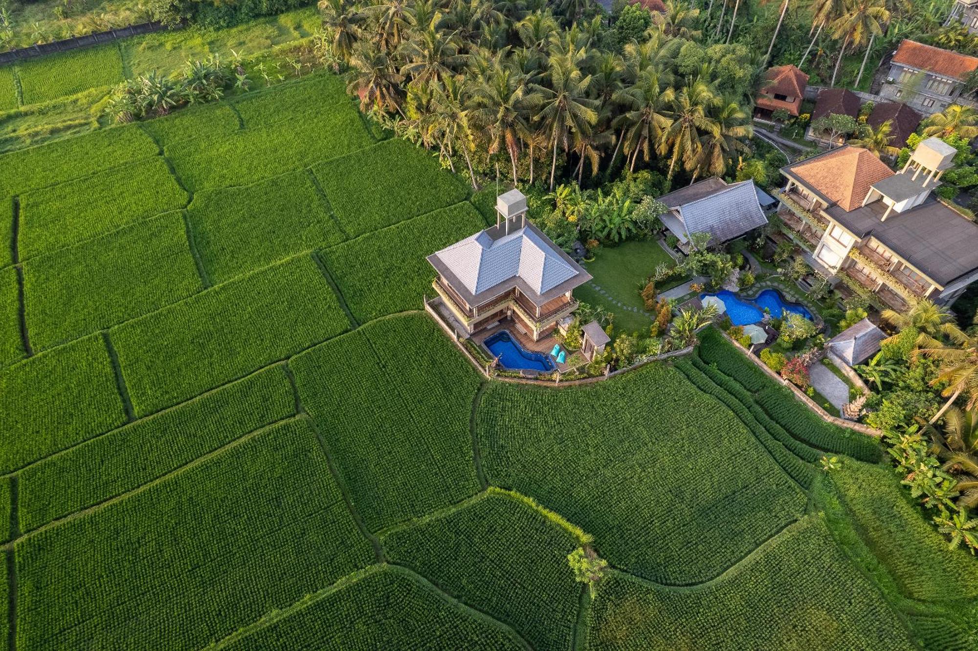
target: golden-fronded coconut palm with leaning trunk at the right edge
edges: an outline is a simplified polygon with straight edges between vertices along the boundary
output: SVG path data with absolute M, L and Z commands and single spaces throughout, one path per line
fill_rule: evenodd
M 937 422 L 962 394 L 968 399 L 968 411 L 978 405 L 978 336 L 951 324 L 944 325 L 942 330 L 949 343 L 925 333 L 921 333 L 918 340 L 918 352 L 938 362 L 937 376 L 931 385 L 947 384 L 941 395 L 947 397 L 948 402 L 934 414 L 930 423 Z

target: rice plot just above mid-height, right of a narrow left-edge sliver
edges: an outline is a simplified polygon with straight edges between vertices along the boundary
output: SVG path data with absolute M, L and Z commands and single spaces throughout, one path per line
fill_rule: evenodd
M 35 351 L 148 314 L 202 288 L 180 212 L 23 263 L 24 312 Z

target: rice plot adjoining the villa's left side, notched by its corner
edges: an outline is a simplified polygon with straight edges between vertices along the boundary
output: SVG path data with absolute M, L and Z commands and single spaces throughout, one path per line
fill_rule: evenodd
M 457 203 L 321 252 L 353 316 L 366 323 L 417 310 L 434 270 L 425 256 L 485 228 L 470 203 Z

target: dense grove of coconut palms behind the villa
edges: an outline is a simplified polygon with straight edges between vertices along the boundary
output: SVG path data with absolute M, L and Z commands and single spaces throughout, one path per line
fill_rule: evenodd
M 657 165 L 672 179 L 723 174 L 747 152 L 759 67 L 738 45 L 704 47 L 699 11 L 545 0 L 323 0 L 333 65 L 403 136 L 513 183 L 583 181 Z M 559 171 L 559 173 L 558 173 Z

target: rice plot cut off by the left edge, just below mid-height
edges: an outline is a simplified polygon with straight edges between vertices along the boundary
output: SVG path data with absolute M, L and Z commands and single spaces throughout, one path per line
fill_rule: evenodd
M 0 371 L 0 472 L 81 443 L 125 422 L 101 334 Z

